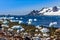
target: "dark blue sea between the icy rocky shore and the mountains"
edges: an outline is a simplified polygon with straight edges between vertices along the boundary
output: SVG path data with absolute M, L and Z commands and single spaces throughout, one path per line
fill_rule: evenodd
M 32 19 L 32 23 L 31 23 L 32 25 L 49 26 L 51 22 L 57 22 L 57 25 L 55 25 L 55 27 L 60 28 L 60 16 L 5 16 L 5 17 L 7 18 L 14 17 L 12 20 L 21 20 L 25 24 L 27 24 L 28 19 Z M 37 21 L 34 21 L 34 19 L 36 19 Z

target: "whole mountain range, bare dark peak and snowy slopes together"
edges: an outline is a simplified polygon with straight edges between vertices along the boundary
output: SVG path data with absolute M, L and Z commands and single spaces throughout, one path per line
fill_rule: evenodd
M 60 15 L 60 7 L 44 7 L 41 10 L 33 10 L 28 15 Z

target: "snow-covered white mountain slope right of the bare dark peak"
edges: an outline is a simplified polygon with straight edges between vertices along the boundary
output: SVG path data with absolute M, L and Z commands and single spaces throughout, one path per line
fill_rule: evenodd
M 39 13 L 43 15 L 60 15 L 60 7 L 44 8 Z

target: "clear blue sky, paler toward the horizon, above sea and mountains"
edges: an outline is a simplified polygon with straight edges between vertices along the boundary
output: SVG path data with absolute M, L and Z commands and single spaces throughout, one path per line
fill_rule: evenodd
M 0 0 L 0 15 L 26 15 L 53 6 L 60 6 L 60 0 Z

